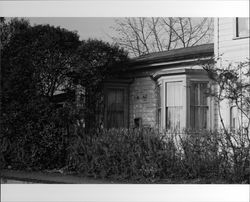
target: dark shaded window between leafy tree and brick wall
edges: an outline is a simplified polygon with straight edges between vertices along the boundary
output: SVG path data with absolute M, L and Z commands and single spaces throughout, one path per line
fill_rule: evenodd
M 107 92 L 107 128 L 125 127 L 124 89 L 108 89 Z

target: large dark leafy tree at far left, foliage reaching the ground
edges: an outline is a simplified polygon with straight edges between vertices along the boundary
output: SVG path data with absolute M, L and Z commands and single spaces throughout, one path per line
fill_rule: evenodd
M 23 21 L 16 20 L 15 26 L 19 23 Z M 3 41 L 1 61 L 1 145 L 8 146 L 1 152 L 11 150 L 4 155 L 8 161 L 46 167 L 65 153 L 62 143 L 68 121 L 61 120 L 50 98 L 59 90 L 72 89 L 67 74 L 74 65 L 79 37 L 49 25 L 25 26 L 9 35 Z

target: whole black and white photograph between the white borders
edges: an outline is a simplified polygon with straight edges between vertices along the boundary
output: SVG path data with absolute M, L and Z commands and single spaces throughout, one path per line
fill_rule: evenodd
M 250 184 L 249 17 L 0 20 L 1 185 Z

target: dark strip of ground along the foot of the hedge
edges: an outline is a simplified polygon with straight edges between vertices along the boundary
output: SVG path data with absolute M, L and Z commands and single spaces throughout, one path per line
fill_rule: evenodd
M 79 174 L 64 174 L 59 172 L 34 172 L 18 170 L 1 170 L 1 184 L 18 184 L 18 183 L 42 183 L 42 184 L 225 184 L 222 180 L 207 179 L 161 179 L 155 182 L 147 181 L 116 181 L 110 179 L 95 179 Z

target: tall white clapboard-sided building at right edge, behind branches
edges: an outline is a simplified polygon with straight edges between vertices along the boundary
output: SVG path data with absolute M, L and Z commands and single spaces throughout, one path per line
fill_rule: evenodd
M 249 18 L 216 18 L 214 22 L 214 52 L 216 57 L 220 57 L 218 67 L 249 59 Z M 249 67 L 240 69 L 242 72 L 244 70 L 249 71 Z M 249 77 L 246 79 L 250 83 Z M 237 129 L 244 125 L 244 116 L 237 110 L 234 103 L 224 100 L 220 108 L 226 128 Z

